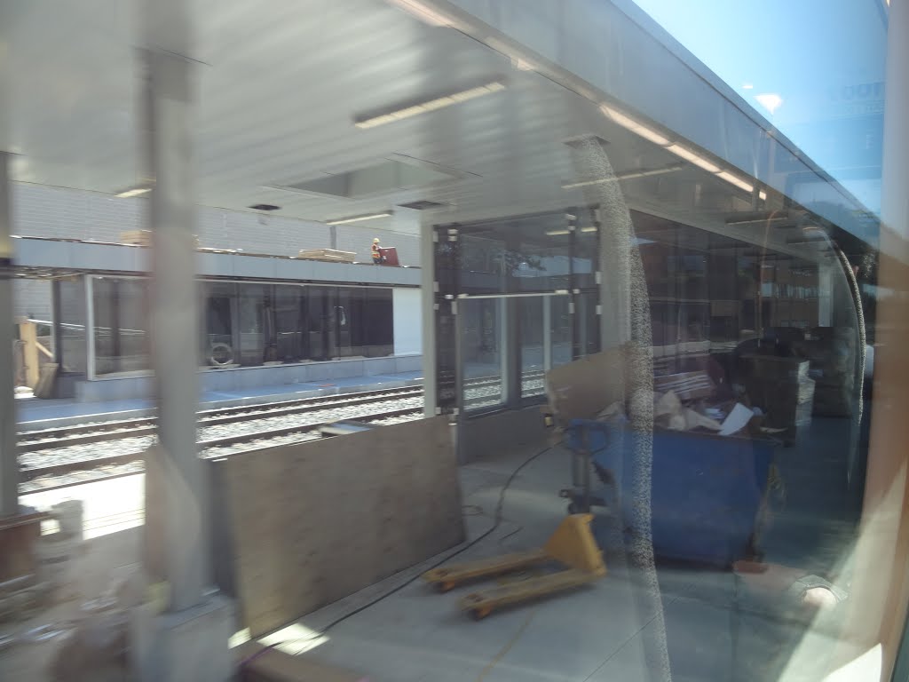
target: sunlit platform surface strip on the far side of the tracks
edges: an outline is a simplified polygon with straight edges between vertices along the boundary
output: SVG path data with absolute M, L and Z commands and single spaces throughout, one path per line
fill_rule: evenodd
M 255 386 L 242 390 L 204 390 L 199 396 L 199 409 L 276 403 L 299 398 L 334 396 L 382 388 L 422 386 L 423 372 L 398 372 L 385 375 L 346 376 L 325 381 L 276 386 Z M 79 402 L 74 398 L 42 400 L 21 397 L 16 400 L 16 421 L 24 429 L 53 428 L 68 423 L 111 421 L 150 415 L 154 401 L 147 398 Z

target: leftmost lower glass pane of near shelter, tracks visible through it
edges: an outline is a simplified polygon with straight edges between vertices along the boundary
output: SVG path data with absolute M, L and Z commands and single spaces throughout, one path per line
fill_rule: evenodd
M 464 299 L 463 366 L 464 408 L 499 406 L 505 389 L 503 298 Z

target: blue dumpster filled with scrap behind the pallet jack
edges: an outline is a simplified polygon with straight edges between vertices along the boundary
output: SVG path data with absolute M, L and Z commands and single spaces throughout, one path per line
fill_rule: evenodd
M 626 536 L 645 532 L 634 476 L 651 476 L 654 555 L 727 566 L 754 554 L 776 442 L 654 427 L 653 464 L 636 462 L 646 436 L 626 424 L 577 419 L 566 442 L 584 452 L 612 495 Z M 575 500 L 577 501 L 577 500 Z

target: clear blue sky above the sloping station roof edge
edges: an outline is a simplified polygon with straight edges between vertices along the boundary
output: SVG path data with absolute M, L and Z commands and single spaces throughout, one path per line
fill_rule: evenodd
M 880 210 L 884 0 L 634 1 Z M 758 95 L 776 95 L 779 104 L 771 112 Z

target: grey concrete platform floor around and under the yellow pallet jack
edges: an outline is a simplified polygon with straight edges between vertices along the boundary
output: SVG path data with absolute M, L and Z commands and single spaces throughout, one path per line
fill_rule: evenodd
M 526 456 L 462 468 L 469 537 L 493 525 L 499 489 Z M 534 460 L 509 488 L 501 526 L 458 559 L 542 545 L 564 517 L 564 500 L 555 492 L 568 477 L 568 458 L 561 448 Z M 456 604 L 469 587 L 439 595 L 416 581 L 331 628 L 327 640 L 309 649 L 307 656 L 352 668 L 373 682 L 778 677 L 804 632 L 743 607 L 736 592 L 740 586 L 730 572 L 629 567 L 608 516 L 596 518 L 594 532 L 605 547 L 609 575 L 592 587 L 474 622 Z M 320 632 L 432 563 L 305 617 L 297 624 L 302 628 L 286 630 L 269 642 L 296 638 L 288 645 L 291 650 L 312 646 L 306 641 L 311 636 L 299 640 L 301 633 Z M 814 645 L 823 657 L 831 642 L 820 637 Z

